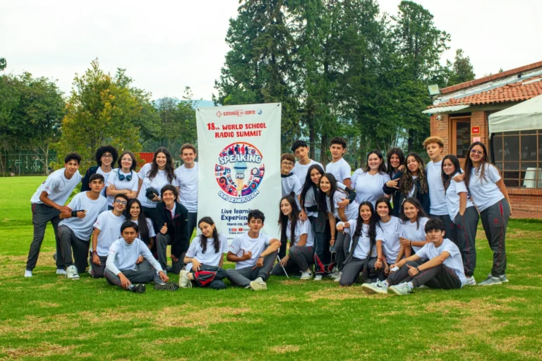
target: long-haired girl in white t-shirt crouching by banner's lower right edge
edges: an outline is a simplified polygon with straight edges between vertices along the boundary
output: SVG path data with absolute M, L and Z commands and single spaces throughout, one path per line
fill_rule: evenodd
M 294 197 L 291 195 L 282 197 L 279 202 L 278 223 L 281 243 L 280 261 L 275 264 L 271 274 L 284 276 L 284 271 L 287 274 L 299 274 L 301 272 L 301 280 L 312 279 L 311 264 L 313 264 L 314 255 L 314 233 L 310 221 L 299 219 L 299 209 Z M 286 255 L 288 240 L 290 241 L 290 249 L 288 255 Z M 281 253 L 284 256 L 281 256 Z

